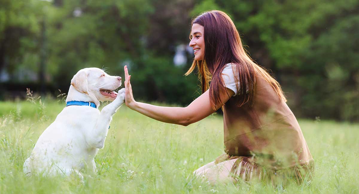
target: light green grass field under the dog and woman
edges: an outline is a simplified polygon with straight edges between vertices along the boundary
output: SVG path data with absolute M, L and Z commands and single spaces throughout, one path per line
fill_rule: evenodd
M 76 176 L 25 177 L 24 160 L 64 105 L 55 100 L 0 102 L 0 193 L 359 193 L 358 124 L 299 120 L 315 160 L 309 186 L 211 186 L 192 171 L 223 153 L 220 115 L 183 127 L 126 106 L 113 117 L 105 147 L 95 157 L 96 175 L 85 174 L 84 183 Z

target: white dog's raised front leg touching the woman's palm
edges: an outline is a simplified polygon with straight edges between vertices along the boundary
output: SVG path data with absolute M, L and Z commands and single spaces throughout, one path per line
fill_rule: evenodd
M 125 102 L 125 88 L 118 91 L 118 96 L 113 102 L 102 108 L 95 127 L 88 134 L 87 142 L 91 147 L 103 148 L 112 115 L 116 113 L 123 102 Z

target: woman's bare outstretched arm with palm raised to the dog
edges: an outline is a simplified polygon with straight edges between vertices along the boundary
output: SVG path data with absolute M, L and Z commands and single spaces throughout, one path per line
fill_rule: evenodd
M 222 106 L 218 105 L 216 109 L 213 110 L 210 104 L 209 91 L 206 91 L 200 97 L 196 98 L 196 100 L 187 107 L 163 107 L 136 102 L 132 96 L 130 79 L 131 76 L 129 76 L 128 69 L 125 66 L 126 106 L 158 121 L 187 126 L 211 115 Z M 223 104 L 234 94 L 234 92 L 228 88 L 227 92 L 228 95 L 225 94 L 221 97 Z

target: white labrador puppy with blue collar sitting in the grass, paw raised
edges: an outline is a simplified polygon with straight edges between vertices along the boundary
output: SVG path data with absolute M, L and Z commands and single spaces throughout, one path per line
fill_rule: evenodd
M 109 76 L 99 68 L 77 72 L 71 79 L 67 106 L 37 140 L 30 157 L 25 160 L 24 173 L 77 173 L 82 178 L 81 169 L 95 172 L 94 157 L 104 146 L 112 115 L 125 99 L 125 88 L 118 94 L 113 91 L 120 86 L 121 77 Z M 113 102 L 100 112 L 94 108 L 99 107 L 99 101 Z

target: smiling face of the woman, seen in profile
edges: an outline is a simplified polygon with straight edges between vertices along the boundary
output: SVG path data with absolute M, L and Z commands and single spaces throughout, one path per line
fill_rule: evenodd
M 195 60 L 204 58 L 204 27 L 199 24 L 193 24 L 191 30 L 190 47 L 193 48 Z

